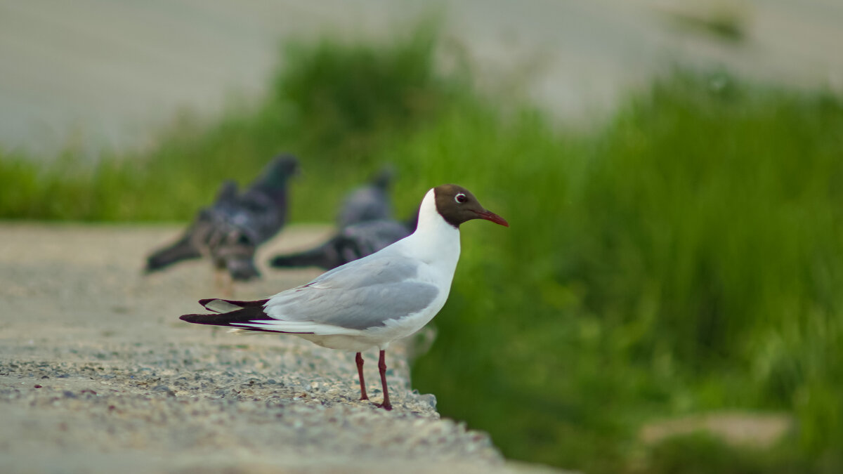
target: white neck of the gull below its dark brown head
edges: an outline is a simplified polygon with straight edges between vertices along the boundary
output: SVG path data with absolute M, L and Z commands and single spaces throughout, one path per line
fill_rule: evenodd
M 405 240 L 416 258 L 454 275 L 459 260 L 459 229 L 445 222 L 438 212 L 432 189 L 421 200 L 416 232 Z

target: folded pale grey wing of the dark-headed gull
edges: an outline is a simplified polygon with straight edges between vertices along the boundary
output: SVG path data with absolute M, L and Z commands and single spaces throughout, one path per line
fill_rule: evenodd
M 370 258 L 375 257 L 375 258 Z M 298 288 L 273 296 L 266 314 L 278 320 L 363 330 L 424 310 L 439 294 L 416 279 L 409 259 L 373 255 L 336 267 Z

